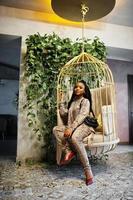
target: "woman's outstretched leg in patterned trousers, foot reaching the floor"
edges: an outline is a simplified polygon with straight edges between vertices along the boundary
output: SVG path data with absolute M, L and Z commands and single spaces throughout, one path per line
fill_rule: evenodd
M 86 176 L 87 180 L 92 178 L 93 174 L 91 171 L 91 166 L 89 163 L 85 145 L 83 143 L 83 139 L 85 137 L 87 137 L 88 135 L 90 135 L 91 133 L 92 133 L 92 130 L 83 124 L 75 130 L 75 132 L 73 133 L 73 135 L 71 137 L 71 142 L 72 142 L 73 146 L 75 147 L 76 152 L 79 155 L 79 158 L 83 165 L 85 176 Z

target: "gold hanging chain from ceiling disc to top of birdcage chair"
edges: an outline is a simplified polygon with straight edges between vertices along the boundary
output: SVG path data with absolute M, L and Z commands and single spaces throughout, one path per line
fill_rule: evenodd
M 85 4 L 81 4 L 81 13 L 82 13 L 82 52 L 84 52 L 84 23 L 86 13 L 89 11 L 89 8 Z

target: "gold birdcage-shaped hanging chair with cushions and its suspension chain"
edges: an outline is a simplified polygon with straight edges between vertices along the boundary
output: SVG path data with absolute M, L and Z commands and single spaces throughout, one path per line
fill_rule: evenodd
M 62 67 L 57 82 L 57 115 L 58 125 L 64 123 L 59 115 L 60 97 L 69 102 L 73 87 L 80 80 L 86 81 L 92 95 L 93 111 L 99 126 L 96 134 L 84 139 L 91 155 L 102 154 L 113 150 L 119 142 L 116 129 L 115 84 L 108 65 L 84 52 L 84 17 L 88 11 L 82 5 L 82 53 L 71 59 Z

